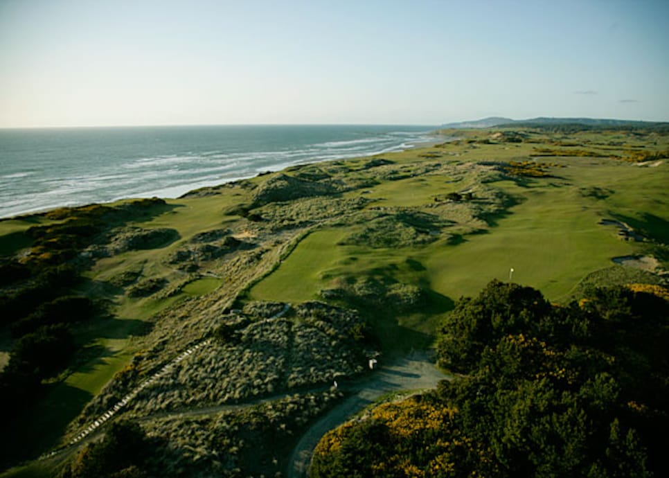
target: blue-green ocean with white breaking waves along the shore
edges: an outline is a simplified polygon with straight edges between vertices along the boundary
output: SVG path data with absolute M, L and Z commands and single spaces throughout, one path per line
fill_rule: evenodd
M 410 148 L 430 126 L 240 125 L 0 130 L 0 218 L 179 197 L 298 163 Z

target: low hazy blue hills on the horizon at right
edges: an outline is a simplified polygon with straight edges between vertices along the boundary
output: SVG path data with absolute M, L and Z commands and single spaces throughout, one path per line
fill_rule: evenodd
M 494 126 L 508 126 L 508 127 L 546 127 L 546 126 L 564 126 L 564 125 L 579 125 L 581 127 L 657 127 L 667 126 L 669 123 L 656 121 L 631 121 L 631 120 L 617 120 L 617 119 L 602 119 L 602 118 L 547 118 L 539 116 L 538 118 L 530 118 L 525 120 L 512 120 L 510 118 L 503 118 L 501 116 L 492 116 L 490 118 L 483 118 L 476 121 L 461 121 L 459 123 L 448 123 L 443 125 L 446 128 L 485 128 Z

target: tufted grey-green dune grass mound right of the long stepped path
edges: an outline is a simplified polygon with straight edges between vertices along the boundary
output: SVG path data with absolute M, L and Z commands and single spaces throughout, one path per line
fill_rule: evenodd
M 364 371 L 374 351 L 366 344 L 360 315 L 321 302 L 295 306 L 290 317 L 276 317 L 280 303 L 249 303 L 218 319 L 210 346 L 174 364 L 133 400 L 130 414 L 193 409 L 244 402 L 264 396 L 332 383 Z M 127 393 L 151 370 L 138 360 L 111 382 L 80 416 L 87 423 Z

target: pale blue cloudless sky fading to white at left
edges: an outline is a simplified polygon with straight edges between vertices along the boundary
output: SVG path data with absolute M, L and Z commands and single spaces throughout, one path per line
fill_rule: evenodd
M 0 127 L 669 121 L 668 0 L 0 0 Z

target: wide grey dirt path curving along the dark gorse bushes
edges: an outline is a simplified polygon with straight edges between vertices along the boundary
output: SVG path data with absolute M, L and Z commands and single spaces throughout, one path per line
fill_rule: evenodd
M 346 422 L 350 416 L 364 409 L 384 393 L 431 389 L 445 378 L 449 377 L 434 366 L 434 363 L 429 360 L 428 353 L 420 351 L 397 360 L 393 364 L 382 366 L 366 380 L 339 384 L 342 389 L 353 391 L 353 395 L 321 417 L 302 435 L 290 457 L 286 476 L 288 478 L 306 477 L 312 453 L 321 436 Z

